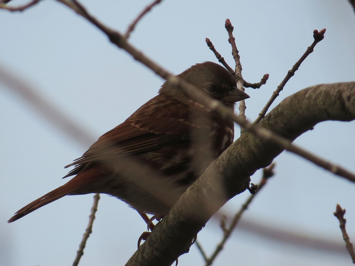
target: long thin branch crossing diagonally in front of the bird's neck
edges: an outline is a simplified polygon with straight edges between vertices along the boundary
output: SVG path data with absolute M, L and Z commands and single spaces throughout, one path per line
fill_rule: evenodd
M 190 83 L 187 83 L 186 81 L 182 80 L 180 77 L 174 76 L 170 72 L 166 71 L 164 68 L 162 68 L 157 63 L 155 63 L 152 59 L 150 59 L 149 57 L 144 55 L 141 51 L 137 50 L 133 45 L 131 45 L 121 33 L 105 26 L 100 21 L 98 21 L 95 17 L 90 15 L 88 11 L 81 4 L 78 3 L 78 1 L 76 0 L 73 0 L 71 2 L 66 0 L 57 0 L 57 1 L 65 4 L 66 6 L 70 7 L 75 12 L 77 12 L 78 15 L 81 15 L 82 17 L 86 18 L 89 22 L 91 22 L 100 30 L 102 30 L 108 36 L 109 40 L 113 44 L 127 51 L 129 54 L 132 55 L 132 57 L 135 60 L 141 62 L 143 65 L 150 68 L 154 73 L 156 73 L 158 76 L 168 81 L 172 86 L 176 86 L 184 90 L 184 92 L 192 100 L 208 107 L 212 111 L 216 111 L 220 113 L 220 115 L 222 115 L 223 117 L 229 117 L 231 120 L 239 124 L 241 127 L 244 127 L 248 131 L 252 132 L 257 137 L 269 141 L 272 144 L 281 147 L 282 149 L 290 151 L 291 153 L 297 154 L 305 158 L 306 160 L 311 161 L 314 164 L 338 176 L 350 180 L 351 182 L 355 182 L 355 173 L 346 170 L 342 166 L 335 165 L 332 162 L 324 160 L 321 157 L 301 148 L 300 146 L 292 144 L 290 140 L 275 135 L 268 129 L 258 127 L 255 123 L 251 123 L 247 120 L 241 119 L 230 108 L 224 106 L 219 101 L 208 97 L 199 89 L 195 88 L 195 86 L 193 86 Z

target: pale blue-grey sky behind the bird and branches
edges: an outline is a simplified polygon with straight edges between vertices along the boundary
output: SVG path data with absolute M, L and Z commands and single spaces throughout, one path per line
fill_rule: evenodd
M 23 1 L 13 0 L 13 5 Z M 125 32 L 149 1 L 87 0 L 85 6 L 108 26 Z M 195 63 L 217 62 L 205 38 L 234 66 L 225 19 L 234 26 L 243 77 L 266 85 L 246 89 L 246 116 L 253 121 L 313 41 L 325 38 L 302 63 L 271 106 L 300 89 L 354 80 L 355 14 L 348 1 L 171 1 L 148 13 L 130 42 L 178 74 Z M 92 142 L 153 98 L 164 82 L 116 48 L 107 37 L 66 6 L 43 1 L 24 12 L 0 10 L 0 67 L 30 84 L 55 109 L 87 133 Z M 42 110 L 47 112 L 47 110 Z M 64 184 L 63 167 L 91 143 L 77 142 L 0 81 L 0 265 L 70 265 L 87 226 L 93 195 L 65 196 L 20 220 L 6 221 L 24 205 Z M 295 143 L 355 171 L 355 122 L 322 122 Z M 239 132 L 239 128 L 236 128 Z M 237 137 L 237 133 L 236 133 Z M 83 144 L 84 142 L 84 144 Z M 275 158 L 275 176 L 257 195 L 243 221 L 342 244 L 335 205 L 346 209 L 355 241 L 355 185 L 284 152 Z M 261 171 L 252 177 L 258 183 Z M 231 199 L 222 212 L 233 215 L 249 196 Z M 93 233 L 80 265 L 124 265 L 146 226 L 122 201 L 101 195 Z M 222 237 L 214 219 L 198 234 L 211 254 Z M 345 244 L 344 244 L 345 250 Z M 285 244 L 236 229 L 215 265 L 351 265 L 346 253 Z M 192 246 L 179 265 L 203 265 Z

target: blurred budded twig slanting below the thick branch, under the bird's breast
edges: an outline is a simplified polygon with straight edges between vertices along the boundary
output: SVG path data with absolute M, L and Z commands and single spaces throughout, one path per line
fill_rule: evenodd
M 275 167 L 275 164 L 272 163 L 269 167 L 266 167 L 263 169 L 263 177 L 260 181 L 260 184 L 258 185 L 258 188 L 256 190 L 255 194 L 252 194 L 249 196 L 249 198 L 245 201 L 245 203 L 242 205 L 242 207 L 240 208 L 240 210 L 235 214 L 235 216 L 233 217 L 232 222 L 230 223 L 229 228 L 223 228 L 223 238 L 222 240 L 217 244 L 214 252 L 212 253 L 211 257 L 205 259 L 206 261 L 206 265 L 205 266 L 210 266 L 212 265 L 214 259 L 217 257 L 217 255 L 220 253 L 220 251 L 223 249 L 225 242 L 228 240 L 228 238 L 230 237 L 231 233 L 233 232 L 234 228 L 236 227 L 236 225 L 238 224 L 242 214 L 244 213 L 244 211 L 246 211 L 250 205 L 250 203 L 252 202 L 252 200 L 255 198 L 256 194 L 258 194 L 260 192 L 260 190 L 265 186 L 265 184 L 267 183 L 267 180 L 272 177 L 274 175 L 273 169 Z

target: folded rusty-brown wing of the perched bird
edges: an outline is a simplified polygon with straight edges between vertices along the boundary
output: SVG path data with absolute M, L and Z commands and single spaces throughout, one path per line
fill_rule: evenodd
M 125 122 L 103 134 L 80 158 L 65 166 L 75 166 L 65 177 L 79 173 L 89 163 L 189 142 L 186 133 L 191 127 L 206 127 L 203 121 L 191 123 L 190 111 L 176 100 L 162 94 L 155 96 Z

